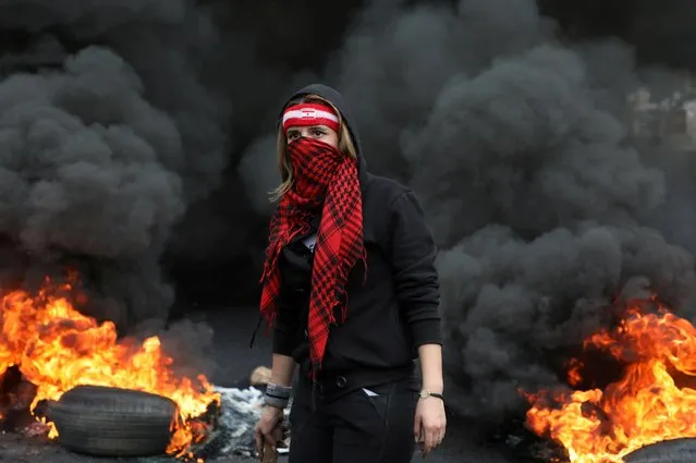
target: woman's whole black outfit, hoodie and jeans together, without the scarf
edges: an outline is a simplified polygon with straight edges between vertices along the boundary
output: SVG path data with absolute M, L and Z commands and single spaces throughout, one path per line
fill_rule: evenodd
M 312 243 L 305 236 L 281 252 L 273 353 L 301 364 L 290 414 L 290 463 L 408 463 L 418 385 L 414 358 L 423 344 L 441 343 L 437 248 L 414 193 L 373 175 L 345 102 L 334 89 L 310 85 L 307 94 L 331 101 L 349 125 L 358 153 L 367 270 L 356 265 L 346 283 L 347 315 L 331 327 L 316 382 L 309 371 L 307 321 Z M 366 390 L 367 389 L 367 390 Z

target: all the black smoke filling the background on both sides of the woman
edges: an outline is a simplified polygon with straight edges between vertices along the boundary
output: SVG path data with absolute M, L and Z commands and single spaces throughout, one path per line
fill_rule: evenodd
M 505 417 L 516 388 L 562 382 L 616 300 L 691 314 L 689 160 L 635 143 L 626 106 L 693 65 L 692 28 L 668 25 L 695 9 L 674 4 L 3 2 L 3 278 L 70 264 L 124 326 L 253 302 L 278 109 L 321 78 L 370 168 L 423 198 L 460 409 Z

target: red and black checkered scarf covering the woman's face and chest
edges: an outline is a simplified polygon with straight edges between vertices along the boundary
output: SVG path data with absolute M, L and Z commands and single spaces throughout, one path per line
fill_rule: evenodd
M 316 377 L 330 326 L 335 324 L 335 307 L 342 307 L 342 321 L 347 315 L 347 276 L 358 260 L 365 264 L 363 198 L 357 161 L 333 146 L 301 137 L 288 145 L 288 154 L 294 182 L 271 219 L 260 310 L 269 324 L 274 321 L 280 292 L 278 256 L 295 236 L 309 231 L 312 217 L 320 211 L 307 329 L 312 373 Z

